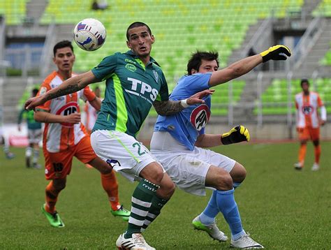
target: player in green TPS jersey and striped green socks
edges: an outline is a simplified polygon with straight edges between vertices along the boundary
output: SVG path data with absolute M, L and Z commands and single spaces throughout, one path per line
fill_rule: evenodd
M 152 250 L 141 234 L 142 226 L 156 218 L 168 202 L 175 185 L 147 147 L 135 138 L 154 105 L 161 115 L 172 115 L 184 106 L 204 103 L 205 90 L 183 101 L 169 101 L 168 85 L 159 64 L 150 57 L 154 36 L 142 22 L 134 22 L 126 30 L 130 50 L 105 57 L 87 73 L 66 80 L 44 96 L 31 98 L 28 109 L 47 100 L 84 89 L 88 84 L 106 80 L 105 99 L 91 133 L 91 143 L 102 159 L 108 161 L 124 177 L 139 183 L 131 198 L 131 214 L 126 232 L 119 235 L 118 249 Z

